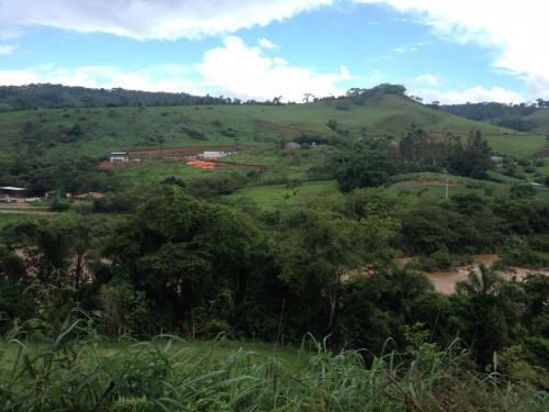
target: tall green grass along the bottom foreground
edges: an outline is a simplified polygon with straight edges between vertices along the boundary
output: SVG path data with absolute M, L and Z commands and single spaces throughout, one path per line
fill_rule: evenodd
M 293 361 L 243 348 L 189 352 L 176 336 L 103 353 L 86 319 L 41 321 L 0 343 L 1 411 L 547 411 L 547 393 L 466 368 L 463 352 L 423 346 L 368 364 L 303 341 Z M 427 350 L 425 350 L 427 348 Z

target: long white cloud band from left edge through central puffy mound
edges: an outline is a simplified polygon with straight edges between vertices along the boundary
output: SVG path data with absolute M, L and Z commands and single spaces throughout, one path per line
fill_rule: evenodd
M 264 56 L 259 46 L 249 47 L 242 38 L 229 36 L 222 46 L 205 52 L 197 65 L 123 69 L 114 66 L 65 68 L 47 64 L 21 70 L 0 69 L 0 85 L 49 82 L 193 94 L 211 92 L 256 100 L 282 96 L 284 100 L 301 101 L 304 93 L 343 94 L 345 90 L 338 89 L 337 82 L 350 75 L 345 66 L 339 71 L 317 74 L 292 66 L 282 57 Z

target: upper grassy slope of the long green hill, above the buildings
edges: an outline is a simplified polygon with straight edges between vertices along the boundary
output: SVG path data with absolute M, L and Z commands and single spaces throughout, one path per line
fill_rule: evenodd
M 302 134 L 399 138 L 411 124 L 428 132 L 467 135 L 480 130 L 495 152 L 529 156 L 545 136 L 470 121 L 410 99 L 383 94 L 362 105 L 345 100 L 290 105 L 197 105 L 43 109 L 0 113 L 4 155 L 104 157 L 110 151 L 246 144 L 274 147 Z M 328 122 L 335 127 L 328 127 Z

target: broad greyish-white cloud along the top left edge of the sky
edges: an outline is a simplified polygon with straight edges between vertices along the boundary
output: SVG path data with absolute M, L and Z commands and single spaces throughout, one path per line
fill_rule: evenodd
M 47 25 L 146 38 L 193 38 L 264 26 L 333 0 L 0 0 L 0 26 Z

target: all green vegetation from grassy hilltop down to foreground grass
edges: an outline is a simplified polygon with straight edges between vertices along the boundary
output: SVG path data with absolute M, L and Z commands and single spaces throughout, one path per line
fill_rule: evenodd
M 0 182 L 56 189 L 42 204 L 59 212 L 0 214 L 1 408 L 546 410 L 538 137 L 388 85 L 303 105 L 0 114 Z M 176 146 L 234 153 L 98 167 Z M 88 191 L 105 196 L 64 196 Z M 453 294 L 422 274 L 489 253 Z M 215 356 L 200 342 L 220 334 L 273 356 Z

